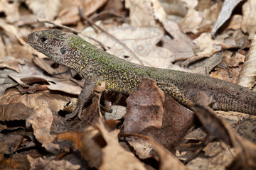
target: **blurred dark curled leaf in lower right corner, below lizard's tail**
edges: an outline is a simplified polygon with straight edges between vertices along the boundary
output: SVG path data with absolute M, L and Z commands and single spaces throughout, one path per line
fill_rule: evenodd
M 206 96 L 199 94 L 198 97 L 206 99 Z M 235 159 L 228 166 L 228 169 L 255 169 L 256 145 L 243 137 L 240 137 L 233 128 L 219 119 L 213 109 L 201 106 L 200 103 L 190 103 L 189 107 L 196 113 L 198 119 L 210 134 L 223 140 L 235 148 Z M 239 161 L 238 161 L 239 160 Z

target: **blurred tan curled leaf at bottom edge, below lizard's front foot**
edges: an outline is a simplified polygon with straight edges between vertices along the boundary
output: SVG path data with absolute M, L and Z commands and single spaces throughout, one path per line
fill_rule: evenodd
M 58 140 L 72 140 L 90 167 L 144 169 L 143 164 L 132 153 L 118 144 L 118 133 L 119 130 L 111 131 L 102 119 L 98 119 L 95 128 L 90 126 L 82 132 L 65 132 L 58 135 Z

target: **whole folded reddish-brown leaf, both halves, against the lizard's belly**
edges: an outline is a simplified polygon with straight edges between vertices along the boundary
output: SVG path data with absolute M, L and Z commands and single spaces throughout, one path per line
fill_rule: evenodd
M 194 115 L 169 96 L 163 103 L 163 97 L 163 91 L 157 88 L 155 81 L 143 79 L 127 98 L 124 132 L 149 135 L 174 151 L 193 127 Z

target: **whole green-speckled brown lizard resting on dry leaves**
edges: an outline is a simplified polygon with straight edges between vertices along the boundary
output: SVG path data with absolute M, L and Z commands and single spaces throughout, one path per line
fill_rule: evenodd
M 156 81 L 165 94 L 186 106 L 195 92 L 203 91 L 213 98 L 211 108 L 256 115 L 256 93 L 228 81 L 173 69 L 146 67 L 128 62 L 90 44 L 80 36 L 61 30 L 40 30 L 28 35 L 28 43 L 54 62 L 74 69 L 86 81 L 73 113 L 65 120 L 81 119 L 82 108 L 100 81 L 106 89 L 131 94 L 143 77 Z

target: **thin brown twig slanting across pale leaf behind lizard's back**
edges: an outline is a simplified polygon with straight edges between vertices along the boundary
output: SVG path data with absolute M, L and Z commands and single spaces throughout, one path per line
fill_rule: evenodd
M 104 29 L 102 29 L 100 26 L 97 26 L 90 18 L 88 18 L 87 16 L 85 16 L 85 14 L 82 12 L 82 8 L 79 8 L 79 13 L 80 16 L 82 17 L 82 19 L 84 19 L 85 21 L 87 21 L 88 23 L 90 23 L 92 26 L 95 26 L 96 28 L 98 28 L 99 30 L 102 31 L 102 33 L 107 34 L 108 36 L 110 36 L 110 38 L 116 42 L 118 42 L 120 45 L 122 45 L 122 47 L 124 47 L 124 49 L 126 49 L 127 51 L 129 51 L 129 53 L 135 57 L 140 64 L 144 65 L 142 60 L 139 59 L 139 57 L 132 51 L 129 49 L 129 47 L 127 47 L 127 45 L 125 45 L 123 42 L 121 42 L 120 40 L 118 40 L 116 37 L 114 37 L 114 35 L 111 35 L 110 33 L 107 33 L 107 31 L 105 31 Z

